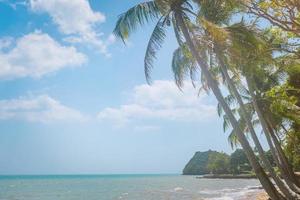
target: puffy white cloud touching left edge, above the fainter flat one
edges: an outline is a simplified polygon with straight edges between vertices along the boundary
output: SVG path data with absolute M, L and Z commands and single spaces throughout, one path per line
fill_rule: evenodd
M 6 49 L 8 46 L 12 46 Z M 86 62 L 74 47 L 62 46 L 48 34 L 35 31 L 17 40 L 0 40 L 0 79 L 40 78 L 65 67 Z

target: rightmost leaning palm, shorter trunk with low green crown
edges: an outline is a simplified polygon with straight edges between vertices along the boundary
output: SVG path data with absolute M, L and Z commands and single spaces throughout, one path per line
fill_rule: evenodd
M 277 62 L 275 62 L 275 64 L 276 63 Z M 268 66 L 268 64 L 266 63 L 264 63 L 264 65 Z M 277 80 L 280 79 L 280 73 L 278 73 L 278 70 L 275 73 L 270 73 L 264 68 L 264 66 L 260 66 L 259 69 L 255 69 L 256 72 L 258 72 L 259 70 L 261 71 L 258 73 L 259 76 L 257 75 L 257 73 L 253 73 L 251 71 L 251 74 L 246 76 L 249 93 L 252 97 L 252 102 L 257 116 L 261 121 L 262 128 L 266 133 L 268 143 L 274 145 L 274 149 L 271 149 L 272 154 L 275 158 L 275 161 L 277 162 L 277 166 L 279 167 L 282 176 L 285 178 L 288 185 L 290 185 L 291 188 L 294 188 L 295 192 L 300 194 L 299 182 L 275 134 L 276 129 L 278 129 L 276 128 L 276 126 L 283 127 L 282 123 L 284 122 L 284 120 L 282 116 L 275 115 L 271 111 L 270 102 L 264 98 L 264 94 L 266 94 L 267 91 L 269 91 L 274 86 L 280 85 L 280 80 Z M 276 154 L 278 156 L 276 156 Z

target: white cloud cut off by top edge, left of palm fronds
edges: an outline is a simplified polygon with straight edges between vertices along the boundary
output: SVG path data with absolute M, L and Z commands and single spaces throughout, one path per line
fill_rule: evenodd
M 112 36 L 101 39 L 103 33 L 95 30 L 95 25 L 105 21 L 105 15 L 95 12 L 87 0 L 29 0 L 35 12 L 48 13 L 59 30 L 67 35 L 65 41 L 86 43 L 96 47 L 101 53 L 109 55 L 107 46 Z

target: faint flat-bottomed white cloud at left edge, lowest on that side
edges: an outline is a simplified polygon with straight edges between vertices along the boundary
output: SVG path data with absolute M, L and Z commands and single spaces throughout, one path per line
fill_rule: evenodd
M 0 119 L 49 123 L 85 121 L 87 118 L 79 111 L 62 105 L 48 95 L 41 95 L 0 100 Z

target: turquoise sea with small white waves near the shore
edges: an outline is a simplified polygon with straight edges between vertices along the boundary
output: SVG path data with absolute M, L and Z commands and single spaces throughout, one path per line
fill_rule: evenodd
M 0 200 L 255 200 L 255 179 L 182 175 L 0 176 Z

